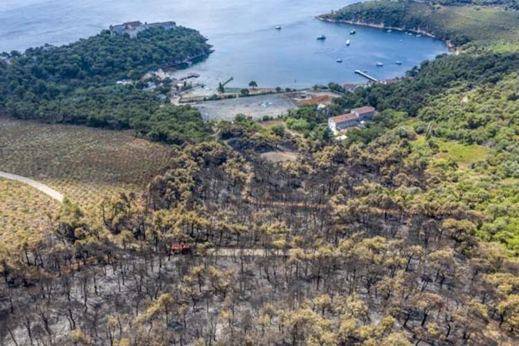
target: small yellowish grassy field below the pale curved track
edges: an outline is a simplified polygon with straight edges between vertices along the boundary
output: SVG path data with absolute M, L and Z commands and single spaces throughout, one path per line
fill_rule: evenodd
M 60 203 L 28 185 L 0 179 L 0 248 L 37 241 Z

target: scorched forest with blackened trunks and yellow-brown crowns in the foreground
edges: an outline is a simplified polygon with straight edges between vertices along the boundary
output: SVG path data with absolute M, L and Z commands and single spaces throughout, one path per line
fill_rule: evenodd
M 302 144 L 283 165 L 202 143 L 177 152 L 142 199 L 106 199 L 102 224 L 66 201 L 51 237 L 2 257 L 0 337 L 514 343 L 518 262 L 477 240 L 484 215 L 440 198 L 457 169 L 415 140 L 394 129 L 370 145 Z M 197 255 L 175 255 L 176 242 Z

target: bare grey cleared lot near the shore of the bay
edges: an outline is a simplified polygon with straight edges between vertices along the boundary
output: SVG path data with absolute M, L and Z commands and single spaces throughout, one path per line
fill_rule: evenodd
M 295 104 L 283 94 L 271 94 L 200 102 L 194 107 L 199 109 L 204 120 L 233 120 L 239 113 L 259 120 L 264 116 L 280 116 L 295 108 Z

